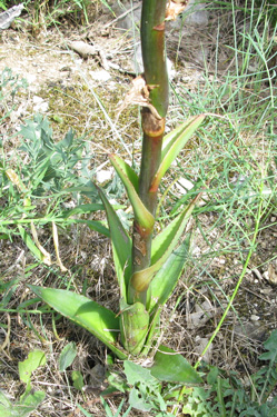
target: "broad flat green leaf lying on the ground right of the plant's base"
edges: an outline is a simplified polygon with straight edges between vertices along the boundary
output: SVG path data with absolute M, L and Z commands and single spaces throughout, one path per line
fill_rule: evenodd
M 186 385 L 202 383 L 201 377 L 187 359 L 166 346 L 159 346 L 159 350 L 154 357 L 154 365 L 149 369 L 151 375 L 161 381 Z

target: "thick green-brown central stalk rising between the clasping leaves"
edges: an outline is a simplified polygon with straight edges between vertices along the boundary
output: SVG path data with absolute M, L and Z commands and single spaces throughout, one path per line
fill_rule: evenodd
M 149 107 L 142 116 L 142 153 L 139 176 L 139 197 L 155 217 L 157 190 L 150 186 L 160 165 L 161 145 L 165 132 L 165 117 L 168 109 L 168 75 L 165 49 L 165 16 L 167 0 L 144 0 L 141 13 L 141 49 L 145 67 Z M 132 239 L 132 269 L 140 271 L 150 266 L 152 228 L 145 229 L 135 221 Z M 148 285 L 139 286 L 130 281 L 129 302 L 146 304 Z

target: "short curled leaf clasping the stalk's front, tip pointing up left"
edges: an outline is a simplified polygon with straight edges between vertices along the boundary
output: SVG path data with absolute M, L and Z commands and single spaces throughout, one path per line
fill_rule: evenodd
M 121 181 L 125 185 L 126 191 L 132 205 L 132 209 L 133 209 L 133 214 L 135 214 L 135 218 L 137 222 L 142 228 L 147 230 L 151 230 L 154 227 L 155 218 L 150 214 L 150 211 L 148 211 L 148 209 L 146 208 L 146 206 L 144 205 L 144 202 L 138 196 L 138 191 L 137 191 L 138 183 L 137 183 L 137 178 L 135 177 L 136 173 L 131 170 L 130 167 L 127 169 L 126 168 L 127 163 L 121 161 L 121 159 L 117 157 L 116 155 L 112 155 L 110 157 L 110 161 L 113 165 L 117 173 L 119 175 L 119 177 L 121 178 Z

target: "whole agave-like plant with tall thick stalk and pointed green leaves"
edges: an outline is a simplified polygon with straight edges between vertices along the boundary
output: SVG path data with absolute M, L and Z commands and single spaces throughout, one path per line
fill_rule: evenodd
M 184 239 L 179 246 L 178 242 L 199 198 L 197 196 L 160 234 L 154 236 L 160 181 L 205 118 L 204 115 L 192 117 L 164 136 L 169 95 L 165 20 L 175 17 L 185 4 L 186 1 L 142 1 L 145 72 L 133 81 L 130 95 L 136 96 L 133 102 L 142 106 L 144 138 L 139 176 L 118 155 L 110 155 L 110 161 L 125 185 L 133 209 L 131 236 L 99 188 L 109 222 L 120 290 L 119 312 L 71 291 L 29 287 L 55 310 L 92 332 L 118 358 L 145 357 L 155 346 L 154 375 L 164 380 L 199 383 L 200 377 L 185 358 L 157 342 L 161 308 L 176 287 L 188 250 L 188 239 Z

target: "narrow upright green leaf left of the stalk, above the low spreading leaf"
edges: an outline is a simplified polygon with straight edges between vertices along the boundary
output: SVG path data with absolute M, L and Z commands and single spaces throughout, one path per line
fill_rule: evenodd
M 127 300 L 127 287 L 131 276 L 131 240 L 103 191 L 98 188 L 108 217 L 113 261 L 121 297 Z

